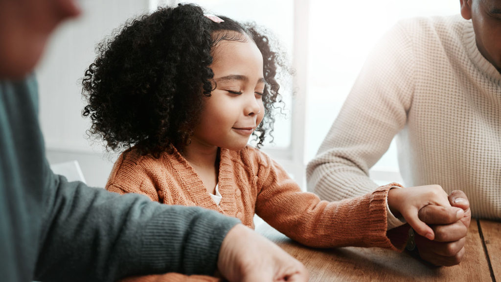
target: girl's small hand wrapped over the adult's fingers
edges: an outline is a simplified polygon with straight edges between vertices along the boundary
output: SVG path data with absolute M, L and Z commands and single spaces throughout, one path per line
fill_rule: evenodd
M 447 193 L 439 185 L 395 188 L 388 192 L 390 211 L 395 216 L 401 214 L 416 233 L 433 240 L 435 238 L 433 230 L 418 217 L 419 210 L 427 205 L 451 207 Z M 457 208 L 457 213 L 464 214 L 464 211 Z

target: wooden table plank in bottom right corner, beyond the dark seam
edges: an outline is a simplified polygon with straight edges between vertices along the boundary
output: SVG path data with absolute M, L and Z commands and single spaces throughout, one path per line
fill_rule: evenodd
M 480 220 L 483 240 L 496 281 L 501 281 L 501 222 Z

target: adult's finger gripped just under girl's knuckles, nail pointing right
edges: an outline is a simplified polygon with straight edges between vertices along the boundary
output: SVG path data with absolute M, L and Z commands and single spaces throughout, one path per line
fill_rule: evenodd
M 464 211 L 458 207 L 426 205 L 418 212 L 421 221 L 427 224 L 450 224 L 464 217 Z

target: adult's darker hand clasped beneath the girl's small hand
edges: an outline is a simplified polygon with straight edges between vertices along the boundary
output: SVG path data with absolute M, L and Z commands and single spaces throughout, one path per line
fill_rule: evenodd
M 419 210 L 419 219 L 435 233 L 434 240 L 416 234 L 415 242 L 422 259 L 434 264 L 451 266 L 461 262 L 465 250 L 466 234 L 471 220 L 471 211 L 466 195 L 459 190 L 448 197 L 452 207 L 428 205 Z M 461 208 L 463 212 L 458 212 Z

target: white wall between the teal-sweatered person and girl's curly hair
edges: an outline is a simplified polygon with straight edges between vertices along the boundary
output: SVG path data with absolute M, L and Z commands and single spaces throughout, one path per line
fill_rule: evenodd
M 127 19 L 148 12 L 149 0 L 85 0 L 80 5 L 82 16 L 57 30 L 36 71 L 40 122 L 49 162 L 78 160 L 87 183 L 103 187 L 116 157 L 88 142 L 81 79 L 95 58 L 96 44 Z

